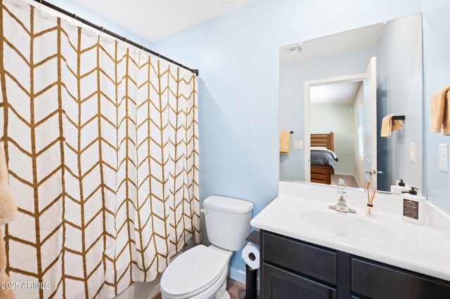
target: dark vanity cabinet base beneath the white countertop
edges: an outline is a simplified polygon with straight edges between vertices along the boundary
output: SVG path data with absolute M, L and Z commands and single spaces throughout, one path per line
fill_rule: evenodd
M 450 282 L 262 231 L 260 295 L 290 298 L 450 298 Z

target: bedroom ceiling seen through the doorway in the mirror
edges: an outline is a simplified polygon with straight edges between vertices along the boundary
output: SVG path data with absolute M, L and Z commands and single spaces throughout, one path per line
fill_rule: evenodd
M 361 81 L 312 86 L 309 89 L 311 105 L 353 104 Z

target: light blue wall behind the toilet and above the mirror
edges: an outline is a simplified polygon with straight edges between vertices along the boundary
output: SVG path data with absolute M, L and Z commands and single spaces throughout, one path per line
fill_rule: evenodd
M 155 42 L 200 69 L 200 199 L 248 199 L 256 214 L 278 194 L 280 46 L 420 11 L 420 0 L 257 0 Z M 231 267 L 242 279 L 240 253 Z

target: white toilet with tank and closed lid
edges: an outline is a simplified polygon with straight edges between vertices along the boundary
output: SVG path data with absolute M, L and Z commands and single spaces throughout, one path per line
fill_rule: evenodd
M 250 201 L 212 196 L 203 202 L 207 236 L 212 245 L 198 245 L 181 253 L 161 278 L 163 299 L 226 299 L 229 261 L 245 246 L 250 232 Z

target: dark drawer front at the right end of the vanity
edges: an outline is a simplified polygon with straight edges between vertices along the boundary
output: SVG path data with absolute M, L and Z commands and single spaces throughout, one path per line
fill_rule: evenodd
M 352 258 L 352 292 L 369 298 L 449 298 L 450 284 Z

